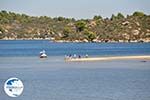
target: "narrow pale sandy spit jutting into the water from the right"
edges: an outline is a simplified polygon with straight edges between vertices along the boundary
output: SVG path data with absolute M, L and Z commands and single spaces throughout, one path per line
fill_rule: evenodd
M 65 61 L 103 61 L 103 60 L 125 60 L 125 59 L 148 59 L 150 60 L 150 55 L 147 56 L 115 56 L 115 57 L 93 57 L 93 58 L 72 58 L 65 59 Z

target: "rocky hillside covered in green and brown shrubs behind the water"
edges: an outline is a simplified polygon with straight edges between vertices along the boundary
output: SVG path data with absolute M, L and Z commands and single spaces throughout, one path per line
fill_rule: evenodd
M 134 12 L 126 17 L 94 16 L 80 19 L 28 16 L 0 12 L 0 39 L 51 39 L 54 41 L 150 41 L 150 15 Z

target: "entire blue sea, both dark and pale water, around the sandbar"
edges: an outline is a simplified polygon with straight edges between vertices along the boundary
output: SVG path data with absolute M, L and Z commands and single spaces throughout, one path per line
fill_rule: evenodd
M 48 58 L 40 59 L 45 50 Z M 150 55 L 150 43 L 57 43 L 0 40 L 0 100 L 150 100 L 150 60 L 66 62 L 84 57 Z M 9 97 L 5 81 L 19 78 L 22 94 Z

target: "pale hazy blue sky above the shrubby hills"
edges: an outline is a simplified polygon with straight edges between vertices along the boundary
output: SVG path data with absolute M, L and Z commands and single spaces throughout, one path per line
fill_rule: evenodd
M 118 12 L 124 15 L 134 11 L 150 14 L 150 0 L 0 0 L 0 10 L 33 16 L 110 17 Z

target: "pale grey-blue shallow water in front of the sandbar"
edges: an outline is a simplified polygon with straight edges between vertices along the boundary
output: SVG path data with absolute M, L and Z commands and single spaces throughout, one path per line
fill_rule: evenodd
M 63 57 L 0 57 L 0 100 L 5 81 L 19 78 L 19 100 L 150 100 L 150 60 L 66 63 Z

